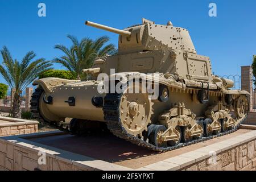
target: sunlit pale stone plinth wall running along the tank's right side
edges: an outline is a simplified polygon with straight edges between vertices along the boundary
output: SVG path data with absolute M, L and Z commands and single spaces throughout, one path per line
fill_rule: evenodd
M 251 125 L 245 128 L 253 130 Z M 256 130 L 144 166 L 143 170 L 222 171 L 256 169 Z

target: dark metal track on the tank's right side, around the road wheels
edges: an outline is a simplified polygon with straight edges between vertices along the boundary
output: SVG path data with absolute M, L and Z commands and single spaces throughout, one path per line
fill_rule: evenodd
M 107 94 L 106 97 L 104 98 L 104 107 L 103 107 L 104 119 L 107 123 L 108 129 L 115 136 L 117 136 L 119 138 L 125 139 L 133 144 L 137 144 L 138 146 L 146 147 L 150 150 L 154 150 L 154 151 L 158 151 L 158 152 L 166 152 L 166 151 L 175 150 L 176 148 L 189 146 L 194 143 L 203 142 L 205 140 L 209 140 L 212 138 L 221 137 L 223 135 L 233 133 L 234 131 L 236 131 L 238 129 L 240 124 L 246 119 L 246 115 L 245 115 L 245 117 L 243 117 L 241 119 L 240 123 L 238 123 L 238 125 L 236 125 L 234 127 L 234 129 L 226 131 L 225 133 L 212 135 L 210 137 L 203 137 L 201 139 L 195 139 L 188 143 L 180 143 L 177 146 L 173 146 L 173 147 L 165 147 L 165 148 L 156 147 L 151 143 L 147 143 L 144 140 L 127 133 L 126 130 L 123 129 L 123 127 L 121 125 L 121 121 L 119 119 L 119 103 L 121 101 L 121 97 L 122 97 L 122 94 Z

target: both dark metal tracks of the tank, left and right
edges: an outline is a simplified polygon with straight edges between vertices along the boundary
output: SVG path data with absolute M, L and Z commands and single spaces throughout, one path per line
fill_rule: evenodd
M 64 131 L 65 133 L 73 135 L 73 133 L 71 133 L 71 131 L 68 129 L 68 127 L 64 128 L 63 125 L 61 125 L 59 123 L 46 121 L 40 115 L 39 99 L 40 99 L 40 96 L 42 93 L 43 93 L 42 88 L 36 88 L 35 92 L 32 94 L 31 101 L 30 101 L 30 104 L 31 104 L 30 109 L 31 109 L 32 117 L 35 119 L 38 119 L 39 121 L 47 123 L 49 126 L 52 126 L 55 129 L 58 129 L 60 131 Z M 142 147 L 148 148 L 150 150 L 158 151 L 158 152 L 166 152 L 166 151 L 175 150 L 176 148 L 189 146 L 194 143 L 203 142 L 205 140 L 209 140 L 212 138 L 221 137 L 223 135 L 233 133 L 234 131 L 236 131 L 238 129 L 240 124 L 246 119 L 246 117 L 241 119 L 240 123 L 238 123 L 238 125 L 235 126 L 234 129 L 229 130 L 226 133 L 220 133 L 218 135 L 212 135 L 210 137 L 203 137 L 201 139 L 192 140 L 191 142 L 188 142 L 188 143 L 180 143 L 177 146 L 173 146 L 173 147 L 166 147 L 166 148 L 156 147 L 151 143 L 147 143 L 138 137 L 134 137 L 133 135 L 130 135 L 129 133 L 126 132 L 125 129 L 123 129 L 123 127 L 121 125 L 121 121 L 119 119 L 119 103 L 121 101 L 121 97 L 122 97 L 122 94 L 106 94 L 106 97 L 104 98 L 104 107 L 103 107 L 104 119 L 106 121 L 106 124 L 107 124 L 110 132 L 112 134 L 114 134 L 115 136 L 125 139 L 133 144 L 137 144 L 138 146 L 142 146 Z

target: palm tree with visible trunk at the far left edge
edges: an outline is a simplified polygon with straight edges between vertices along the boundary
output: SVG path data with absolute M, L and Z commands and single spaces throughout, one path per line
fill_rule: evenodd
M 1 50 L 3 57 L 0 65 L 0 73 L 5 78 L 10 88 L 14 89 L 13 103 L 11 108 L 11 115 L 14 118 L 21 117 L 20 104 L 22 91 L 34 81 L 40 73 L 51 69 L 51 63 L 45 61 L 43 58 L 32 61 L 36 54 L 33 51 L 28 52 L 21 62 L 16 59 L 13 60 L 10 51 L 4 46 Z

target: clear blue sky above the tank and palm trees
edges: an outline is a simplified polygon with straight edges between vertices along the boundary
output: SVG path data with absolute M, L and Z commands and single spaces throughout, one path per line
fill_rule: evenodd
M 46 4 L 46 17 L 38 16 L 40 2 Z M 208 15 L 210 2 L 217 5 L 217 17 Z M 210 57 L 215 74 L 240 75 L 241 65 L 250 65 L 256 55 L 255 7 L 254 0 L 0 0 L 0 48 L 7 46 L 18 60 L 30 50 L 51 60 L 62 55 L 55 44 L 71 46 L 67 34 L 79 39 L 108 35 L 117 46 L 118 35 L 87 27 L 85 20 L 121 29 L 141 23 L 141 18 L 157 24 L 171 20 L 189 30 L 197 53 Z M 2 76 L 0 82 L 5 82 Z

